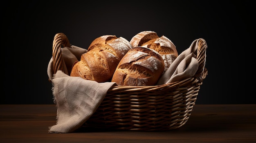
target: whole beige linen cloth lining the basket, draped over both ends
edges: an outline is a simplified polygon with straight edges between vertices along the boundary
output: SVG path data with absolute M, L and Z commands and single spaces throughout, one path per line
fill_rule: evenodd
M 174 60 L 159 79 L 158 85 L 195 75 L 198 70 L 196 54 L 200 39 L 194 40 L 191 46 Z M 62 48 L 64 71 L 58 70 L 53 74 L 52 58 L 48 64 L 47 74 L 52 80 L 52 93 L 57 108 L 56 125 L 49 127 L 49 133 L 70 133 L 79 129 L 97 110 L 108 89 L 116 86 L 114 82 L 98 83 L 81 77 L 70 77 L 73 62 L 80 60 L 81 55 L 87 52 L 84 48 L 71 47 Z

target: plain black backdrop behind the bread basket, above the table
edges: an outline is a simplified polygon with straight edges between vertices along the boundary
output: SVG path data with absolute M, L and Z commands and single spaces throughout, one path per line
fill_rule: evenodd
M 178 53 L 206 40 L 208 75 L 197 104 L 255 104 L 253 4 L 247 0 L 8 2 L 2 5 L 1 104 L 53 104 L 47 66 L 56 33 L 87 48 L 101 35 L 128 41 L 141 31 L 165 35 Z M 5 78 L 5 79 L 4 79 Z

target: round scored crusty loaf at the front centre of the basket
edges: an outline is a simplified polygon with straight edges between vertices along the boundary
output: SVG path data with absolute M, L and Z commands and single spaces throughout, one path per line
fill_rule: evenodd
M 155 50 L 133 47 L 119 62 L 112 82 L 125 86 L 153 86 L 164 71 L 164 60 Z

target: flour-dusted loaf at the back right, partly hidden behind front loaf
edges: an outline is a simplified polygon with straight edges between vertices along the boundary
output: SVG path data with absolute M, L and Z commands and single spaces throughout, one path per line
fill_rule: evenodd
M 159 37 L 154 31 L 142 31 L 132 37 L 130 43 L 133 47 L 143 46 L 157 51 L 164 59 L 164 72 L 178 56 L 176 46 L 173 42 L 164 35 Z

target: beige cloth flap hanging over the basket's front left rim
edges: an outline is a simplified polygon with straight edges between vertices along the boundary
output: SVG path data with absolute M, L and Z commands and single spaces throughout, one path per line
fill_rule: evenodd
M 56 103 L 56 125 L 49 133 L 70 133 L 80 128 L 97 110 L 115 82 L 98 83 L 81 77 L 70 77 L 58 70 L 52 78 Z

